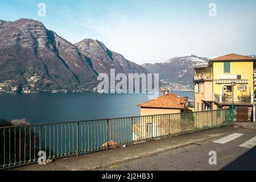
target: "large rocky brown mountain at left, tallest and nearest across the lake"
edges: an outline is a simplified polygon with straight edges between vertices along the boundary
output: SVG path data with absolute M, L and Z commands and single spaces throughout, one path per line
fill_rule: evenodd
M 96 73 L 89 57 L 42 23 L 1 22 L 0 82 L 32 90 L 92 86 Z

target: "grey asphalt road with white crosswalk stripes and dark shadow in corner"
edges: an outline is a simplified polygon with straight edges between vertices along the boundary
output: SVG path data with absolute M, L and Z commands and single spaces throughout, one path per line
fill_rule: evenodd
M 239 127 L 234 133 L 227 133 L 224 137 L 100 170 L 256 170 L 256 130 Z M 209 164 L 209 158 L 214 153 L 209 156 L 210 151 L 216 152 L 216 164 Z

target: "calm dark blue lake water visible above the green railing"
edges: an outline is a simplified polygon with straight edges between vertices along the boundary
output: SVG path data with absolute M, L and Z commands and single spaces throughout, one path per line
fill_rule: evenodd
M 174 92 L 193 100 L 193 92 Z M 81 121 L 139 115 L 147 94 L 34 93 L 0 94 L 0 118 L 32 123 Z

